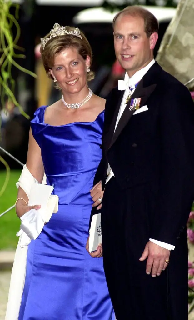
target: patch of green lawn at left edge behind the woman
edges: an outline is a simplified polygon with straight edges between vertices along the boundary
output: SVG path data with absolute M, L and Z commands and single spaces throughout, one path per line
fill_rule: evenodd
M 0 214 L 11 207 L 17 196 L 17 188 L 15 183 L 20 176 L 20 170 L 11 170 L 8 185 L 0 197 Z M 0 171 L 0 190 L 4 184 L 6 172 Z M 20 220 L 16 216 L 15 208 L 0 217 L 0 250 L 16 249 L 18 237 L 16 233 L 20 228 Z

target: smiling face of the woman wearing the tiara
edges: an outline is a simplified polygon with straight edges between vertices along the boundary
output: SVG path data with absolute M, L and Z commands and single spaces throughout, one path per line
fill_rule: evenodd
M 69 47 L 55 56 L 50 72 L 63 93 L 77 93 L 87 84 L 87 67 L 90 67 L 90 57 L 84 60 L 76 48 Z

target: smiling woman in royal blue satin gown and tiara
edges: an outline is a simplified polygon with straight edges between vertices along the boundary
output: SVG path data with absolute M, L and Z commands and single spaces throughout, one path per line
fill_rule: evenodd
M 26 165 L 40 183 L 45 172 L 59 209 L 28 246 L 19 320 L 110 320 L 114 314 L 102 259 L 85 250 L 105 100 L 88 89 L 92 51 L 81 31 L 55 24 L 41 43 L 44 68 L 62 98 L 36 110 Z M 25 202 L 28 197 L 19 188 L 18 217 L 29 210 Z

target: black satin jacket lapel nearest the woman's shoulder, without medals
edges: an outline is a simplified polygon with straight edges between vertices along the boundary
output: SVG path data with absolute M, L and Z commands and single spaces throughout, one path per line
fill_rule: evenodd
M 109 145 L 110 145 L 110 142 L 111 142 L 113 134 L 114 134 L 115 124 L 117 121 L 117 116 L 118 116 L 118 112 L 120 109 L 120 105 L 121 105 L 121 102 L 123 99 L 123 94 L 124 94 L 124 91 L 117 90 L 114 99 L 112 101 L 110 101 L 111 109 L 112 109 L 113 113 L 112 113 L 112 115 L 111 114 L 107 115 L 108 117 L 111 117 L 110 125 L 107 128 L 108 130 L 106 130 L 106 123 L 104 124 L 105 127 L 104 127 L 104 132 L 103 132 L 103 144 L 105 147 L 105 151 L 107 151 L 109 149 Z

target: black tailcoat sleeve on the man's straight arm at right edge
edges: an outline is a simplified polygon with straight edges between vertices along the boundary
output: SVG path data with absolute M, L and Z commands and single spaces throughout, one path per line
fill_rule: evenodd
M 159 107 L 161 164 L 150 238 L 176 245 L 194 200 L 194 104 L 182 84 L 166 96 Z

